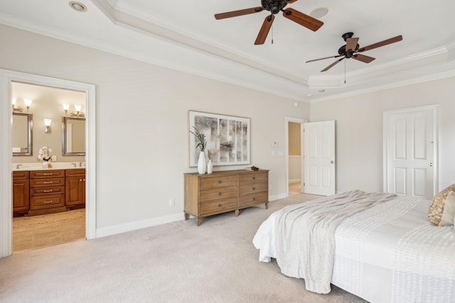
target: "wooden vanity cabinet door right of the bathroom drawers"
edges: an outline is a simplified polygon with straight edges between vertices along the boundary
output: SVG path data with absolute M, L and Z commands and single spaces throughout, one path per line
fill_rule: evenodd
M 83 206 L 85 204 L 85 168 L 66 170 L 65 205 Z

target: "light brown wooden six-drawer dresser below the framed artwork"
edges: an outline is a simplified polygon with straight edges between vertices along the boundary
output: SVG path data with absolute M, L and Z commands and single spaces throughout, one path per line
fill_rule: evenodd
M 222 214 L 239 209 L 269 204 L 268 170 L 228 170 L 208 175 L 186 173 L 185 176 L 185 219 Z

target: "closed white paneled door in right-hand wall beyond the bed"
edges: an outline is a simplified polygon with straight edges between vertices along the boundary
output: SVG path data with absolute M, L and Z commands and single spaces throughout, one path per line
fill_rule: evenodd
M 432 199 L 435 170 L 436 108 L 385 113 L 385 192 Z

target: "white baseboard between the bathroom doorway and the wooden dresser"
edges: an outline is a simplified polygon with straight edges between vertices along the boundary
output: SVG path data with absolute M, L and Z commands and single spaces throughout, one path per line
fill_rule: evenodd
M 147 228 L 151 226 L 171 223 L 183 220 L 183 211 L 179 214 L 171 214 L 169 216 L 160 216 L 159 218 L 135 221 L 126 224 L 119 224 L 109 227 L 97 228 L 96 238 L 116 235 L 117 233 L 125 233 L 127 231 L 136 231 L 137 229 Z

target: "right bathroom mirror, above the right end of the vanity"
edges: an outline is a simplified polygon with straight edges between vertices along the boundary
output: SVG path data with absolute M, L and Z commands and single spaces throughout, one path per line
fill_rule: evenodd
M 85 119 L 63 117 L 62 120 L 63 155 L 85 155 Z

